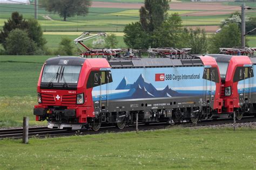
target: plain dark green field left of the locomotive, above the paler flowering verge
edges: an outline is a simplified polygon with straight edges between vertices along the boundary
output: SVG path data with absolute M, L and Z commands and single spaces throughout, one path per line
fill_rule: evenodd
M 49 56 L 0 56 L 0 96 L 36 96 L 38 76 Z

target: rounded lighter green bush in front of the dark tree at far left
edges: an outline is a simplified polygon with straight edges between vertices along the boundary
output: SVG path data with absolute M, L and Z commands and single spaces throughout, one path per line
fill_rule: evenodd
M 23 30 L 12 30 L 6 38 L 6 52 L 9 55 L 35 54 L 36 44 Z

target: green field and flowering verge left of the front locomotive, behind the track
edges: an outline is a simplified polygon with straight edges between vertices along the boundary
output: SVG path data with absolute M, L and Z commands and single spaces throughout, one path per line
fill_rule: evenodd
M 23 116 L 30 125 L 42 124 L 35 122 L 33 106 L 38 77 L 49 57 L 0 56 L 0 127 L 22 126 Z

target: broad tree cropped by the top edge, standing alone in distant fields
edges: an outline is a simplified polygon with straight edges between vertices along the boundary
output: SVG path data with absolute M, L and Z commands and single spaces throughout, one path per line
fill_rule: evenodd
M 59 13 L 59 16 L 66 21 L 66 18 L 75 15 L 85 16 L 91 6 L 91 0 L 44 0 L 42 5 L 50 12 Z

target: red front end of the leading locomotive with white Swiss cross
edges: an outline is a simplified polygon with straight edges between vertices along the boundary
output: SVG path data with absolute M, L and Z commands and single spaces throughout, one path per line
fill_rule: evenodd
M 38 105 L 33 114 L 37 121 L 49 122 L 48 127 L 80 129 L 95 117 L 91 90 L 86 89 L 90 71 L 97 66 L 108 68 L 105 59 L 56 57 L 47 60 L 37 85 Z

